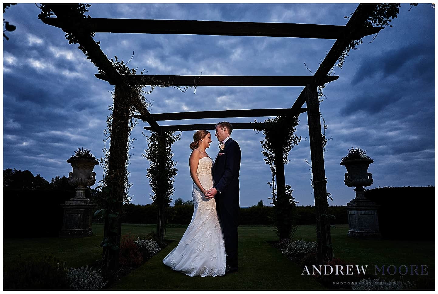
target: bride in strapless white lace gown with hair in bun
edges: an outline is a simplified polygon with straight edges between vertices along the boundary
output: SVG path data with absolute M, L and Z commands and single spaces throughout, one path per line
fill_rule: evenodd
M 194 213 L 177 247 L 163 259 L 166 266 L 188 276 L 225 274 L 225 244 L 216 213 L 215 198 L 204 197 L 208 189 L 213 187 L 213 159 L 205 152 L 210 147 L 211 138 L 212 135 L 205 130 L 197 131 L 193 135 L 189 166 L 194 182 Z

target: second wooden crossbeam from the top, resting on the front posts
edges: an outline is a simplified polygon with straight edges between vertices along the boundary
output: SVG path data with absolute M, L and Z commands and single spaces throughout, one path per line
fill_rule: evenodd
M 114 81 L 103 74 L 95 74 L 97 78 Z M 287 87 L 305 86 L 311 83 L 324 85 L 335 81 L 339 76 L 237 76 L 237 75 L 124 75 L 124 80 L 133 85 L 161 85 L 161 86 L 253 86 L 253 87 Z

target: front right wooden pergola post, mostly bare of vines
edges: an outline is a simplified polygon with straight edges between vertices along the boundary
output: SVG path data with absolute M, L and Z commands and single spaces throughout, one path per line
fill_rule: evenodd
M 332 237 L 330 234 L 329 204 L 324 168 L 324 150 L 321 133 L 318 91 L 307 85 L 304 89 L 309 124 L 310 153 L 312 159 L 313 191 L 315 198 L 316 238 L 318 243 L 317 264 L 333 259 Z

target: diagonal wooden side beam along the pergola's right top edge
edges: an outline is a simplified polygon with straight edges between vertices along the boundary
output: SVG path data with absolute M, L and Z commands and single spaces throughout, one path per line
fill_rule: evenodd
M 323 76 L 329 74 L 332 67 L 336 64 L 336 61 L 339 59 L 341 54 L 344 52 L 348 44 L 352 40 L 357 40 L 357 31 L 360 31 L 367 18 L 370 16 L 371 12 L 376 8 L 377 4 L 359 4 L 359 6 L 354 11 L 350 20 L 346 24 L 347 34 L 343 39 L 337 39 L 330 49 L 329 53 L 325 56 L 322 63 L 319 65 L 318 70 L 315 72 L 314 77 L 316 80 L 320 79 Z M 316 87 L 315 83 L 309 84 L 311 87 Z M 306 102 L 306 89 L 304 88 L 298 96 L 295 103 L 293 103 L 292 110 L 300 109 L 304 103 Z

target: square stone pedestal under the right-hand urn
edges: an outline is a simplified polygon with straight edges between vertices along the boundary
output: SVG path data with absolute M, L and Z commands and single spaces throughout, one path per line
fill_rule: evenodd
M 379 205 L 365 198 L 364 188 L 356 188 L 356 198 L 347 203 L 349 237 L 381 237 L 377 209 Z

